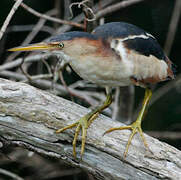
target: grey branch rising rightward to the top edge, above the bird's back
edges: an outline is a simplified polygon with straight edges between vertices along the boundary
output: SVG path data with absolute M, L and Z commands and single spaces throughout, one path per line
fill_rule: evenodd
M 109 7 L 106 7 L 105 9 L 103 10 L 100 10 L 96 13 L 96 19 L 99 19 L 100 17 L 103 17 L 109 13 L 112 13 L 114 11 L 117 11 L 121 8 L 125 8 L 127 6 L 130 6 L 130 5 L 133 5 L 133 4 L 136 4 L 136 3 L 139 3 L 139 2 L 142 2 L 144 0 L 126 0 L 126 1 L 121 1 L 119 3 L 116 3 L 116 4 L 113 4 Z

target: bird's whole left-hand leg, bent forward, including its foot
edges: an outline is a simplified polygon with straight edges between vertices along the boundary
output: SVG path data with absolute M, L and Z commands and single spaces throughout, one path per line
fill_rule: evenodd
M 80 130 L 82 132 L 82 145 L 81 145 L 81 153 L 80 153 L 81 158 L 82 158 L 82 155 L 83 155 L 84 149 L 85 149 L 85 141 L 86 141 L 88 127 L 93 122 L 93 120 L 99 115 L 99 113 L 101 113 L 105 108 L 107 108 L 111 104 L 111 102 L 112 102 L 111 93 L 107 93 L 106 100 L 101 106 L 96 107 L 90 113 L 88 113 L 85 116 L 83 116 L 82 118 L 80 118 L 77 122 L 75 122 L 71 125 L 68 125 L 64 128 L 58 129 L 56 131 L 56 133 L 61 133 L 61 132 L 65 131 L 66 129 L 76 127 L 75 135 L 74 135 L 74 139 L 73 139 L 73 143 L 72 143 L 73 156 L 75 158 L 76 158 L 76 142 L 77 142 L 77 137 L 79 135 Z

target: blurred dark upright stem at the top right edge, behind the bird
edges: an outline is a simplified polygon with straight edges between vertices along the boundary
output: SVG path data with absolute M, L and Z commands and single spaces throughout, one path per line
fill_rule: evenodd
M 170 20 L 170 25 L 169 25 L 169 30 L 168 30 L 168 34 L 167 34 L 167 39 L 165 42 L 165 47 L 164 47 L 164 50 L 167 53 L 167 55 L 170 54 L 170 51 L 172 48 L 172 44 L 173 44 L 173 41 L 175 38 L 175 33 L 177 30 L 180 15 L 181 15 L 181 0 L 176 0 L 175 7 L 174 7 L 173 13 L 172 13 L 172 18 Z

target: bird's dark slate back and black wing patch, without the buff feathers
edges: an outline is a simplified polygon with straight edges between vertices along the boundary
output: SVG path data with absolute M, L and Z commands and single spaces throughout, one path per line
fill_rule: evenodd
M 103 39 L 122 39 L 128 49 L 134 49 L 146 56 L 154 55 L 166 60 L 166 56 L 157 40 L 143 29 L 125 22 L 112 22 L 94 29 L 93 34 Z

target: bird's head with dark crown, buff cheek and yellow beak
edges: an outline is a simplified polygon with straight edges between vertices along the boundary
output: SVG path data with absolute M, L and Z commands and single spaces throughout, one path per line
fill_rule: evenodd
M 85 54 L 95 53 L 100 47 L 100 40 L 96 35 L 72 31 L 53 36 L 47 42 L 30 44 L 11 48 L 8 51 L 55 51 L 64 53 L 70 57 L 79 58 Z

